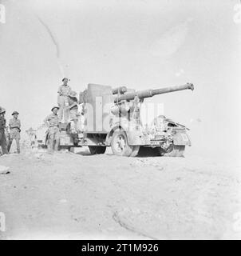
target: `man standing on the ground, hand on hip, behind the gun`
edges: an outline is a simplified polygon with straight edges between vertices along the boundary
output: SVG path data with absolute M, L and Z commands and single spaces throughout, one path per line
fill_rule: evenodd
M 57 110 L 59 110 L 58 106 L 53 106 L 52 108 L 52 114 L 49 114 L 44 122 L 45 124 L 48 126 L 48 134 L 47 134 L 47 138 L 48 138 L 48 150 L 49 153 L 53 153 L 53 150 L 58 150 L 58 146 L 59 146 L 59 141 L 60 141 L 60 132 L 59 132 L 59 127 L 58 127 L 58 123 L 59 123 L 59 119 L 57 116 Z M 55 145 L 53 146 L 55 141 Z

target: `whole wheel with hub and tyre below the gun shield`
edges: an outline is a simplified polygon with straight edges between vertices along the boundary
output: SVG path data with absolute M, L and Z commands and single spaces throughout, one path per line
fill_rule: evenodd
M 138 150 L 137 150 L 136 146 L 128 145 L 127 136 L 123 130 L 116 130 L 113 133 L 113 137 L 110 144 L 113 150 L 113 154 L 116 154 L 116 155 L 130 157 L 132 156 L 131 155 L 132 153 L 133 153 L 133 156 L 135 156 L 136 154 L 138 154 L 138 151 L 139 151 L 139 146 L 137 146 L 138 147 Z

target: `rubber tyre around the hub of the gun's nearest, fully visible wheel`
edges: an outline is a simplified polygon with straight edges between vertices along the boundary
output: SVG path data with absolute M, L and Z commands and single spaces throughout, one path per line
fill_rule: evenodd
M 114 145 L 115 139 L 117 138 L 117 136 L 120 136 L 120 135 L 122 135 L 124 137 L 124 141 L 125 141 L 125 148 L 124 148 L 124 151 L 122 151 L 122 152 L 117 151 L 115 148 L 115 145 Z M 135 150 L 134 150 L 135 146 L 128 145 L 128 138 L 127 138 L 127 135 L 124 132 L 124 130 L 115 130 L 114 131 L 110 145 L 111 145 L 111 149 L 113 150 L 113 154 L 115 154 L 115 155 L 130 157 L 130 156 L 132 156 L 132 153 L 133 153 L 133 156 L 135 156 L 134 154 L 138 154 L 138 151 L 139 151 L 139 148 L 138 148 L 138 151 L 136 153 L 137 148 L 135 148 Z M 137 147 L 139 147 L 139 146 L 137 146 Z

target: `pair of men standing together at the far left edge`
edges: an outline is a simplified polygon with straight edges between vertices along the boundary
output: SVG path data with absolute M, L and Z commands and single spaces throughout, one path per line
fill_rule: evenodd
M 2 148 L 2 154 L 8 154 L 13 140 L 16 141 L 18 154 L 20 153 L 20 132 L 21 122 L 18 119 L 18 111 L 14 111 L 10 119 L 9 128 L 10 132 L 6 128 L 6 110 L 0 106 L 0 146 Z

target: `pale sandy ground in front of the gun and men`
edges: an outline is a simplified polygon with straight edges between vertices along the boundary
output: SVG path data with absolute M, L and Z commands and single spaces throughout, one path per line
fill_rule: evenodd
M 10 167 L 0 174 L 2 239 L 241 238 L 233 159 L 29 149 L 0 157 L 0 166 Z

